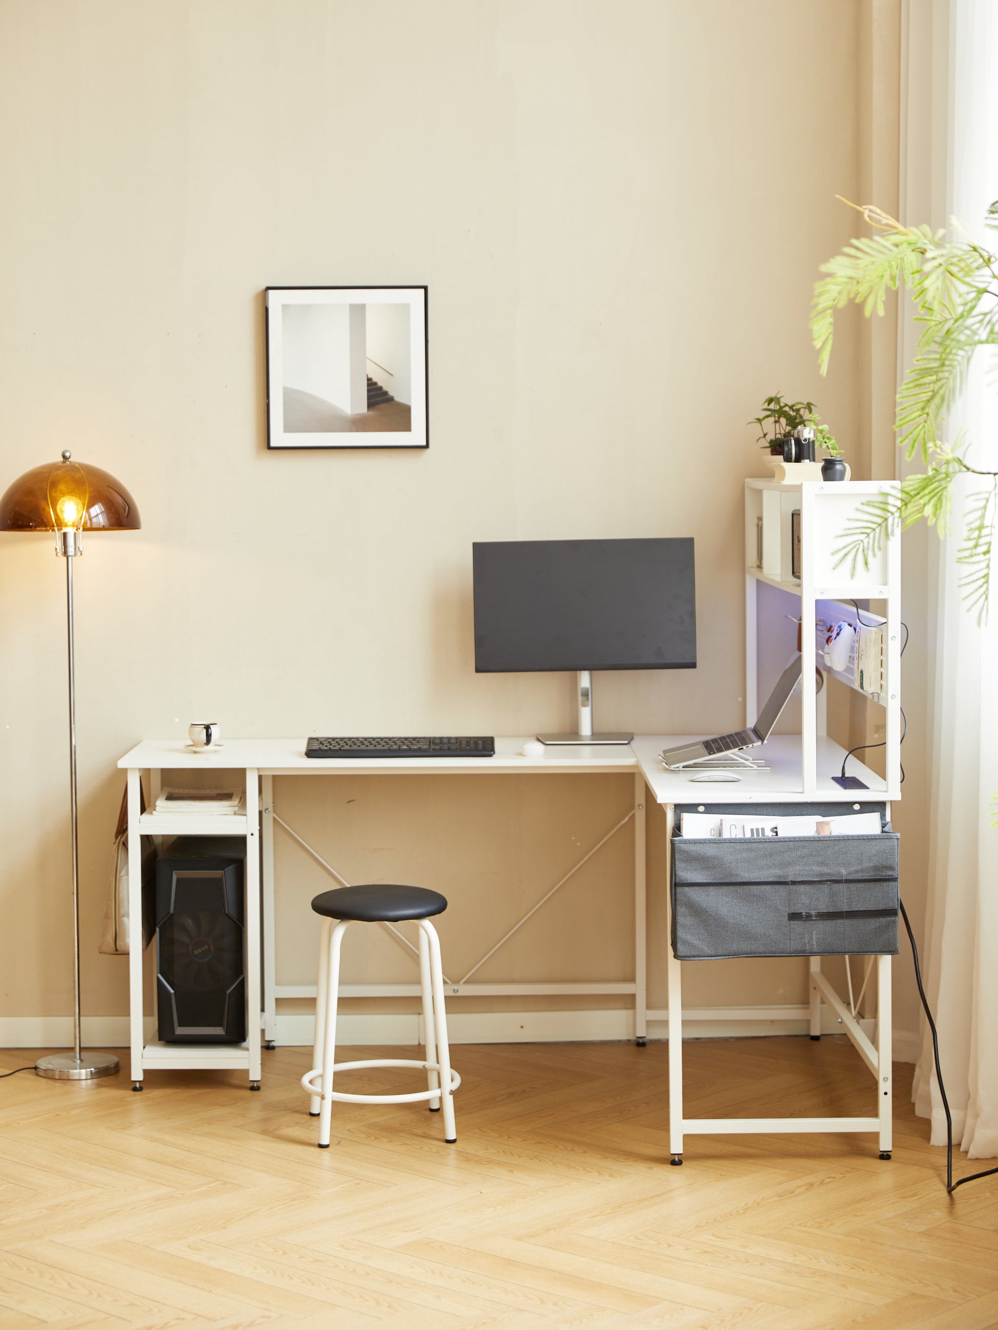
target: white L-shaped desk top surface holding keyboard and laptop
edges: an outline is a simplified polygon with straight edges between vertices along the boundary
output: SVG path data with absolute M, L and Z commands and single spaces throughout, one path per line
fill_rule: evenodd
M 692 738 L 696 738 L 693 735 Z M 496 738 L 495 757 L 443 758 L 307 758 L 305 739 L 224 739 L 212 753 L 194 753 L 184 739 L 144 739 L 118 762 L 120 767 L 216 771 L 254 767 L 267 775 L 559 775 L 600 771 L 637 771 L 644 774 L 657 803 L 749 803 L 778 799 L 801 802 L 800 738 L 793 734 L 773 735 L 752 755 L 765 759 L 772 770 L 747 771 L 741 781 L 691 781 L 687 771 L 668 771 L 660 753 L 664 747 L 691 742 L 691 735 L 637 735 L 629 745 L 548 747 L 543 757 L 523 757 L 520 738 Z M 818 738 L 818 799 L 854 803 L 865 798 L 900 798 L 888 794 L 884 781 L 853 757 L 849 774 L 869 786 L 865 790 L 840 790 L 832 777 L 842 766 L 845 750 L 829 738 Z

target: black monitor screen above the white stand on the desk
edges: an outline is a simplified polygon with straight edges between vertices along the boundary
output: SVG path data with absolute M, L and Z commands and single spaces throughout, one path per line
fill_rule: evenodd
M 696 666 L 692 537 L 472 552 L 478 673 Z

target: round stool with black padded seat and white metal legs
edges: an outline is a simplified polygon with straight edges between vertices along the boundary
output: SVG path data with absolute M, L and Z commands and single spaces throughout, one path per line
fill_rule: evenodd
M 460 1076 L 451 1069 L 447 1043 L 447 1015 L 443 1009 L 443 971 L 440 939 L 430 923 L 443 914 L 447 899 L 424 887 L 371 884 L 337 887 L 323 891 L 311 903 L 322 915 L 319 943 L 319 984 L 315 998 L 315 1045 L 313 1068 L 302 1076 L 302 1089 L 310 1096 L 309 1112 L 319 1120 L 319 1149 L 329 1148 L 333 1101 L 342 1104 L 415 1104 L 430 1101 L 430 1112 L 443 1108 L 443 1136 L 451 1144 L 458 1133 L 454 1125 L 454 1091 Z M 359 1063 L 337 1063 L 337 998 L 339 991 L 339 946 L 351 923 L 401 923 L 411 919 L 419 924 L 419 982 L 423 991 L 424 1061 L 379 1057 Z M 427 1073 L 428 1089 L 414 1095 L 345 1095 L 333 1089 L 334 1072 L 353 1072 L 362 1067 L 419 1067 Z

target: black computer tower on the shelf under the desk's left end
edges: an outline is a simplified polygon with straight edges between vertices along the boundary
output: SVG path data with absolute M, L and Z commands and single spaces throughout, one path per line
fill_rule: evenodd
M 156 996 L 166 1044 L 246 1037 L 241 837 L 180 837 L 156 864 Z

